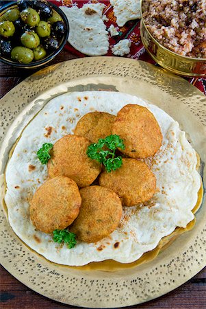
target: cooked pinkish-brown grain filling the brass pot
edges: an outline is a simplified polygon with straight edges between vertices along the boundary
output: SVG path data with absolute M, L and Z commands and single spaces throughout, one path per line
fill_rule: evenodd
M 147 29 L 164 47 L 206 58 L 206 0 L 146 0 L 142 12 Z

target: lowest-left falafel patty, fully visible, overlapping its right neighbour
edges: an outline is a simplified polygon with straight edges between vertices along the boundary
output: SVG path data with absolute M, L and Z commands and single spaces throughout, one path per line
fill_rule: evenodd
M 47 180 L 30 202 L 30 218 L 44 233 L 65 229 L 79 214 L 81 196 L 77 183 L 65 176 Z

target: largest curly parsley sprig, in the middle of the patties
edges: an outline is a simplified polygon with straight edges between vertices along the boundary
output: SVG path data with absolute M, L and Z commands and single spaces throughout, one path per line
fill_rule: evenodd
M 90 159 L 103 163 L 107 172 L 111 172 L 123 164 L 122 157 L 116 157 L 117 148 L 125 149 L 123 139 L 118 135 L 109 135 L 105 139 L 99 139 L 98 143 L 88 146 L 86 153 Z

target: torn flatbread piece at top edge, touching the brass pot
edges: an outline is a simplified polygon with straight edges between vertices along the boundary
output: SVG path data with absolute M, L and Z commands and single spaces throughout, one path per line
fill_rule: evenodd
M 123 27 L 127 21 L 140 19 L 140 0 L 110 0 L 110 3 L 119 27 Z

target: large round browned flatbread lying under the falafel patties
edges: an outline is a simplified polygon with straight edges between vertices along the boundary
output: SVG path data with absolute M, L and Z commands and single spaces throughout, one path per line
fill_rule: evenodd
M 73 134 L 80 117 L 90 111 L 116 115 L 126 104 L 146 106 L 162 130 L 162 147 L 145 159 L 157 179 L 157 192 L 146 205 L 123 207 L 118 228 L 107 238 L 87 244 L 78 241 L 73 249 L 53 242 L 50 234 L 38 231 L 29 218 L 29 201 L 47 179 L 47 165 L 36 156 L 44 142 L 55 143 Z M 122 263 L 138 260 L 157 247 L 159 241 L 185 228 L 194 219 L 201 178 L 196 171 L 196 152 L 179 124 L 162 109 L 125 93 L 86 91 L 66 93 L 50 100 L 32 119 L 18 140 L 5 172 L 5 203 L 16 235 L 31 249 L 59 264 L 80 266 L 112 259 Z

